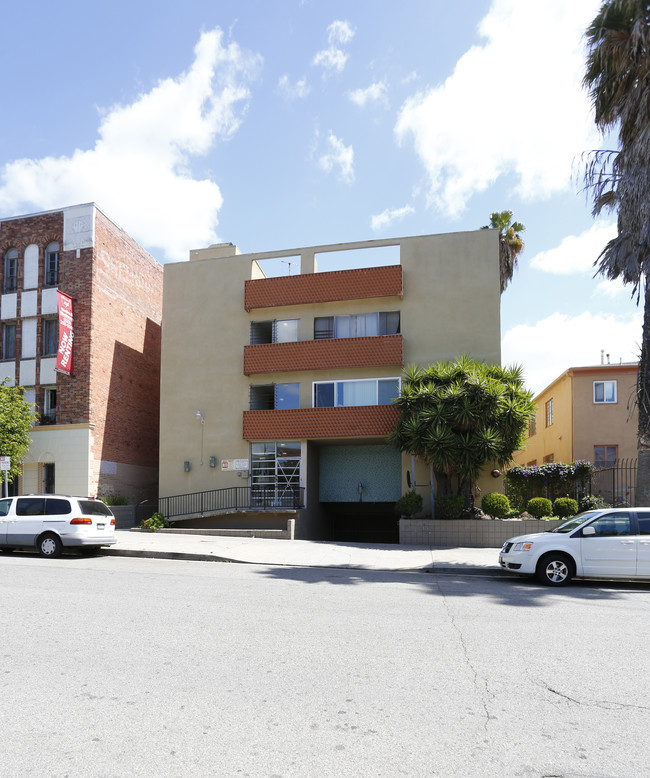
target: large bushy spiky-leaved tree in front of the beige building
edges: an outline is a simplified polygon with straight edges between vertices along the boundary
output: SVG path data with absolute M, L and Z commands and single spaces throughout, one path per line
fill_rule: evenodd
M 452 493 L 455 480 L 466 507 L 473 504 L 472 484 L 482 468 L 510 462 L 535 412 L 521 368 L 467 355 L 405 368 L 395 405 L 400 418 L 389 442 L 431 465 L 439 494 Z

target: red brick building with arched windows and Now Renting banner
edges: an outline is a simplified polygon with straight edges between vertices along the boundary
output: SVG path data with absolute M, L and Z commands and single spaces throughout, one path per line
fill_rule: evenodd
M 0 379 L 38 413 L 14 490 L 155 497 L 162 266 L 93 203 L 0 219 L 0 255 Z M 56 369 L 58 291 L 71 375 Z

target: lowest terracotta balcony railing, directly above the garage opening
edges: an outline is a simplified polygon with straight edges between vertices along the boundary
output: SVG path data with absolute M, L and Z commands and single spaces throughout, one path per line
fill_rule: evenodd
M 244 411 L 244 440 L 318 440 L 378 438 L 395 426 L 393 405 L 352 408 L 296 408 L 284 411 Z

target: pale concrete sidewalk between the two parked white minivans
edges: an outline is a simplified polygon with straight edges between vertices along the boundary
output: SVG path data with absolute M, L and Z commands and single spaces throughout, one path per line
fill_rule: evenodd
M 508 575 L 496 548 L 427 548 L 389 544 L 196 535 L 189 532 L 117 530 L 117 543 L 102 554 L 289 567 L 419 570 Z

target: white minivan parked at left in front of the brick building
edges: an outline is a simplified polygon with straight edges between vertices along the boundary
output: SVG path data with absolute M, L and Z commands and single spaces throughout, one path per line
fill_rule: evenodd
M 44 557 L 64 548 L 93 553 L 112 546 L 115 517 L 101 500 L 59 494 L 30 494 L 0 499 L 0 549 L 36 546 Z

